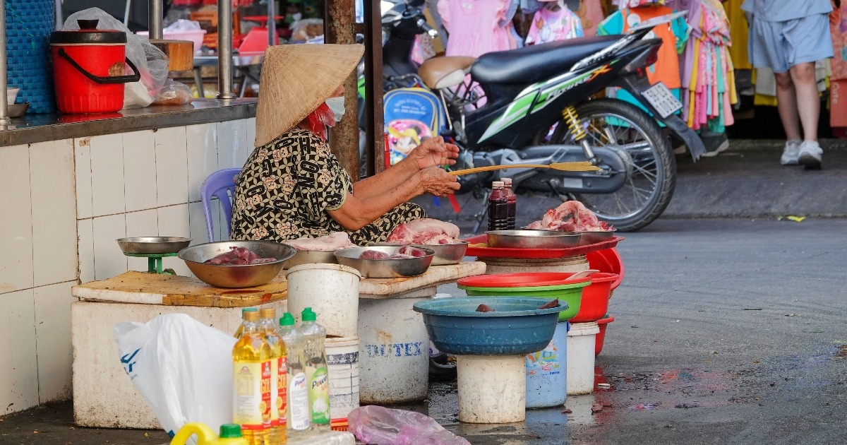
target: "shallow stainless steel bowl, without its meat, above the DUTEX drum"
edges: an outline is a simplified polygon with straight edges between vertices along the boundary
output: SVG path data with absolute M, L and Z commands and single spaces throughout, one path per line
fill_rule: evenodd
M 400 278 L 424 274 L 432 264 L 435 252 L 429 247 L 423 248 L 427 256 L 409 259 L 359 259 L 366 250 L 379 250 L 389 255 L 396 253 L 399 247 L 379 246 L 373 248 L 346 248 L 335 251 L 339 264 L 358 270 L 363 278 Z

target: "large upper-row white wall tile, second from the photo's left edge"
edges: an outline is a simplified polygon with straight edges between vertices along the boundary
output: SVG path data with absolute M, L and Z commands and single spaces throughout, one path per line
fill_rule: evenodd
M 34 285 L 76 280 L 74 143 L 30 145 Z

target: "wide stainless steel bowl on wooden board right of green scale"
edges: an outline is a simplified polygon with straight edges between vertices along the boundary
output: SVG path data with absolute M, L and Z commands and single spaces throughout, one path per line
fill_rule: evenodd
M 230 252 L 230 248 L 248 248 L 260 258 L 275 258 L 276 261 L 263 264 L 205 264 L 221 253 Z M 294 256 L 295 250 L 288 244 L 272 241 L 220 241 L 197 244 L 180 250 L 177 255 L 185 261 L 191 273 L 204 283 L 217 287 L 253 287 L 261 286 L 273 280 L 285 262 Z

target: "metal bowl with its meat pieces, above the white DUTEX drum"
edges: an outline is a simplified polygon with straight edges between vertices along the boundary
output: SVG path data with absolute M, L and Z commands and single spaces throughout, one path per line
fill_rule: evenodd
M 346 248 L 335 251 L 342 265 L 358 270 L 363 278 L 400 278 L 422 275 L 429 270 L 435 257 L 430 248 L 400 248 L 381 246 L 373 248 Z

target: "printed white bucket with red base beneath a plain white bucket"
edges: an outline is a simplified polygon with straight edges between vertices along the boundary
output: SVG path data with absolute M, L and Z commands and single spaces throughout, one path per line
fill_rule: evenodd
M 331 422 L 346 423 L 347 414 L 359 406 L 359 337 L 327 337 L 324 351 Z

